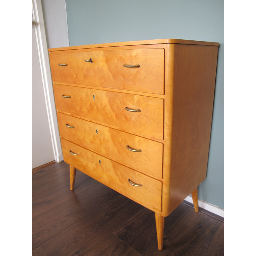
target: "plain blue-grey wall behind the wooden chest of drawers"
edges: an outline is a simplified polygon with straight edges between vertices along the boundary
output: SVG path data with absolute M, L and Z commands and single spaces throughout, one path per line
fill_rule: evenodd
M 199 198 L 224 209 L 224 0 L 66 0 L 70 46 L 178 38 L 219 42 L 212 134 Z

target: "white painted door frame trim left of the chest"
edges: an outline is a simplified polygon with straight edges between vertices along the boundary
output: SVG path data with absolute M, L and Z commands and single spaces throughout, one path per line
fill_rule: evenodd
M 36 43 L 43 81 L 44 99 L 51 133 L 53 155 L 54 160 L 56 162 L 60 162 L 63 160 L 63 155 L 61 151 L 60 134 L 58 130 L 58 121 L 54 104 L 51 69 L 48 57 L 41 0 L 32 0 L 32 14 L 36 28 Z

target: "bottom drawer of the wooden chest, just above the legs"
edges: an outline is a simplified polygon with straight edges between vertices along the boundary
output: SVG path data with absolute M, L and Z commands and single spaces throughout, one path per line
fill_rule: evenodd
M 161 212 L 162 182 L 61 139 L 64 161 L 145 207 Z M 70 150 L 78 155 L 71 155 Z M 135 187 L 131 182 L 141 184 Z

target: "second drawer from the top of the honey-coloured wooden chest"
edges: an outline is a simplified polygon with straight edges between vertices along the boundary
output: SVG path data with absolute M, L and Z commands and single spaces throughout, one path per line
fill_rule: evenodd
M 163 99 L 59 84 L 54 84 L 53 90 L 60 112 L 143 137 L 163 139 Z

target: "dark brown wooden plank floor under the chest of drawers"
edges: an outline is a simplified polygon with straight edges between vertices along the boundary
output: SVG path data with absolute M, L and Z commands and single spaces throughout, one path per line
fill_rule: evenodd
M 157 249 L 154 212 L 69 165 L 33 172 L 33 256 L 224 255 L 224 222 L 180 204 L 164 223 Z

